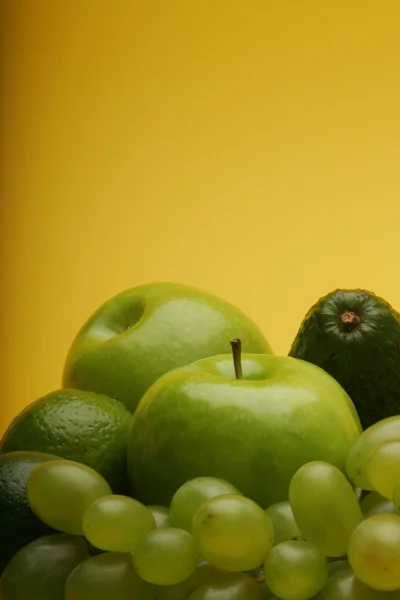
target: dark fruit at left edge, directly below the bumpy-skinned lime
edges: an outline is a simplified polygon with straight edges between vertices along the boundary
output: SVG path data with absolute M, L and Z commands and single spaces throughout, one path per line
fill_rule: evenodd
M 26 482 L 35 467 L 54 458 L 29 451 L 0 456 L 0 573 L 20 548 L 52 531 L 32 512 Z

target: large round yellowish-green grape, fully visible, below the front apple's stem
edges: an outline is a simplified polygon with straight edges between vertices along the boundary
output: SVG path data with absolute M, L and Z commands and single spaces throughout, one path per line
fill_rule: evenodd
M 204 502 L 193 517 L 193 535 L 201 556 L 225 571 L 255 569 L 274 543 L 273 525 L 265 511 L 236 495 Z

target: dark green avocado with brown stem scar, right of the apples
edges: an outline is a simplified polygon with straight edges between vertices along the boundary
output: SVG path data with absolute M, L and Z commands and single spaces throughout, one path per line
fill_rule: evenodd
M 363 289 L 336 289 L 310 308 L 289 356 L 318 365 L 349 394 L 363 429 L 400 414 L 400 314 Z

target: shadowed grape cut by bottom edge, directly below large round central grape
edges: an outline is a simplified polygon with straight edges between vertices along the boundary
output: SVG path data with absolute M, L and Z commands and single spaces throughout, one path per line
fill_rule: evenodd
M 245 573 L 227 573 L 198 587 L 188 600 L 261 600 L 261 588 Z

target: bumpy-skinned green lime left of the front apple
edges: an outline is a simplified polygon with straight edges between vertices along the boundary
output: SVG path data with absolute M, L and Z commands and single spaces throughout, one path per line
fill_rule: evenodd
M 56 390 L 27 406 L 0 442 L 3 453 L 36 450 L 92 467 L 113 492 L 126 486 L 131 413 L 122 402 L 81 390 Z

